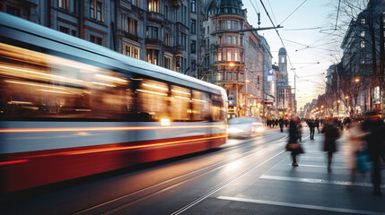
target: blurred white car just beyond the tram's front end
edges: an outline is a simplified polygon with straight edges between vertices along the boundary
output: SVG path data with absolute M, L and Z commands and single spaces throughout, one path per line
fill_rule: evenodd
M 234 117 L 227 121 L 229 138 L 246 138 L 265 133 L 261 118 Z

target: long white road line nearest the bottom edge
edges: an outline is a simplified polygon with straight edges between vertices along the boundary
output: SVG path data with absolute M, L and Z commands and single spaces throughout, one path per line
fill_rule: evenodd
M 351 214 L 352 213 L 354 213 L 354 214 L 369 214 L 369 215 L 383 214 L 383 212 L 376 212 L 376 211 L 361 211 L 361 210 L 352 210 L 352 209 L 345 209 L 345 208 L 324 207 L 324 206 L 311 205 L 311 204 L 273 202 L 273 201 L 267 201 L 267 200 L 256 200 L 256 199 L 229 197 L 229 196 L 218 196 L 217 199 L 230 200 L 230 201 L 236 201 L 236 202 L 270 204 L 270 205 L 276 205 L 276 206 L 285 206 L 285 207 L 301 208 L 301 209 L 311 209 L 311 210 L 319 210 L 319 211 L 346 212 L 346 213 L 351 213 Z

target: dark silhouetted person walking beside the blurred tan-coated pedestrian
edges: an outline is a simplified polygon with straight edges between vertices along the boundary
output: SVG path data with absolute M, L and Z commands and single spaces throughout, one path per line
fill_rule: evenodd
M 321 133 L 325 133 L 323 150 L 328 152 L 328 172 L 331 172 L 331 161 L 333 159 L 333 153 L 337 151 L 336 140 L 340 136 L 337 128 L 337 122 L 330 121 L 328 123 L 324 123 Z

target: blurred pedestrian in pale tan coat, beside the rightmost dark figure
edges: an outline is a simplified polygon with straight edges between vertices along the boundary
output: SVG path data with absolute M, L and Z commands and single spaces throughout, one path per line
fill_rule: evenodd
M 364 133 L 360 121 L 358 119 L 354 119 L 354 121 L 351 123 L 349 134 L 347 168 L 351 169 L 351 180 L 354 183 L 355 173 L 357 170 L 357 154 L 360 151 L 367 149 L 366 143 L 363 139 L 368 133 Z

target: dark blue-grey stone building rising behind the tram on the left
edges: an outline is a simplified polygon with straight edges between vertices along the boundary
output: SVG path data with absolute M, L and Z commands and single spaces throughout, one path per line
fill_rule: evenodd
M 0 11 L 196 76 L 201 0 L 0 0 Z

